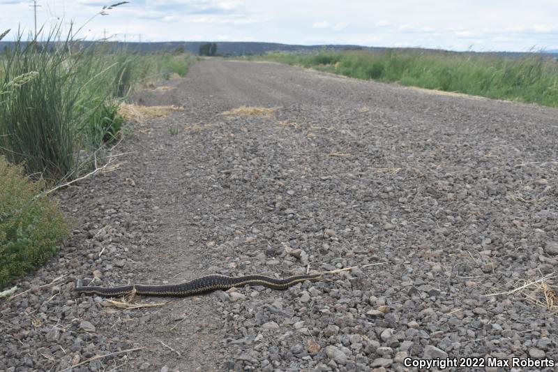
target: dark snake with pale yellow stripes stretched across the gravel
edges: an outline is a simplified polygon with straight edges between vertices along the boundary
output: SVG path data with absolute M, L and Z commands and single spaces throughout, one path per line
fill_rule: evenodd
M 302 283 L 303 281 L 319 281 L 321 279 L 322 274 L 294 275 L 283 279 L 271 278 L 271 276 L 259 274 L 237 277 L 213 274 L 202 276 L 201 278 L 181 284 L 130 284 L 110 288 L 92 285 L 82 286 L 81 281 L 78 280 L 74 290 L 78 293 L 85 293 L 86 295 L 100 295 L 103 297 L 121 297 L 131 294 L 158 297 L 188 297 L 202 295 L 204 293 L 213 292 L 214 290 L 228 290 L 229 288 L 242 287 L 244 285 L 263 285 L 264 287 L 274 290 L 286 290 L 296 283 Z

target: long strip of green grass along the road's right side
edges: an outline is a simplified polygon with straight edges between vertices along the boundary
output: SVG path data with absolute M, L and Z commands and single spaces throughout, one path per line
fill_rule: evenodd
M 443 51 L 323 50 L 314 54 L 270 53 L 248 59 L 315 68 L 359 79 L 558 107 L 558 61 L 543 54 L 518 58 Z

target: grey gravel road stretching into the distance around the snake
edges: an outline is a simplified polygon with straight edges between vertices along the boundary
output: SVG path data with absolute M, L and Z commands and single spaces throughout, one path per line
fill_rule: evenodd
M 73 233 L 0 300 L 0 371 L 555 371 L 541 285 L 487 295 L 557 271 L 558 110 L 220 59 L 169 84 L 135 100 L 185 111 L 130 124 L 118 169 L 59 193 Z M 223 114 L 242 105 L 273 110 Z M 368 264 L 128 310 L 63 283 Z

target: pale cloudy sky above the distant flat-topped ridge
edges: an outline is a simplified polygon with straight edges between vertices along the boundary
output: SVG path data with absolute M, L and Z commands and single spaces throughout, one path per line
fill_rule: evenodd
M 18 25 L 31 30 L 32 3 L 0 0 L 0 32 Z M 80 27 L 111 3 L 39 0 L 37 21 L 73 20 Z M 558 49 L 558 0 L 130 0 L 108 13 L 93 18 L 80 36 L 102 38 L 106 30 L 128 41 Z

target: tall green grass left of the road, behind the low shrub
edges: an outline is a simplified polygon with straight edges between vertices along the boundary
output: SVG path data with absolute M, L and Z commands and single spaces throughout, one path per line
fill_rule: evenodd
M 133 87 L 185 75 L 193 61 L 84 43 L 71 34 L 60 38 L 60 29 L 38 42 L 17 34 L 15 45 L 0 54 L 0 88 L 10 87 L 0 98 L 0 154 L 52 182 L 78 177 L 114 140 L 118 104 Z M 29 74 L 26 84 L 13 84 Z

